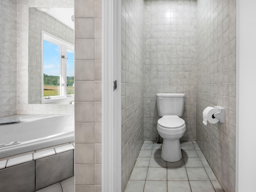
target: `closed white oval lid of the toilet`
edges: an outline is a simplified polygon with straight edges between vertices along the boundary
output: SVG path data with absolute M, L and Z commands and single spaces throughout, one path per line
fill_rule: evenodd
M 166 115 L 160 118 L 157 124 L 166 129 L 176 129 L 184 126 L 185 121 L 176 115 Z

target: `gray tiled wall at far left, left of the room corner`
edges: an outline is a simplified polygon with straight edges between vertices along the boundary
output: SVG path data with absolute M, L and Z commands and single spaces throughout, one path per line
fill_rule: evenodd
M 16 114 L 17 0 L 0 2 L 0 117 Z

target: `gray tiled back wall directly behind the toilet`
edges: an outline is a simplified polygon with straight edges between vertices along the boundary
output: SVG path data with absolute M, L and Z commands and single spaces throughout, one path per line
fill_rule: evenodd
M 181 140 L 196 140 L 196 0 L 145 0 L 144 140 L 156 140 L 156 93 L 185 93 Z

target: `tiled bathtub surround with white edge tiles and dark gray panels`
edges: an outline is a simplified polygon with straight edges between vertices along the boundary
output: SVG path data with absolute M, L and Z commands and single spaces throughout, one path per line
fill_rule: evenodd
M 1 192 L 34 192 L 72 176 L 72 143 L 0 159 Z M 65 185 L 70 180 L 62 183 Z

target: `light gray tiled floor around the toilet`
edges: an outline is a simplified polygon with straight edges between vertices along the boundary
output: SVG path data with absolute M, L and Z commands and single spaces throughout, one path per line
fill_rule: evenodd
M 144 141 L 125 192 L 223 192 L 196 142 L 181 142 L 178 162 L 162 160 L 161 148 Z

